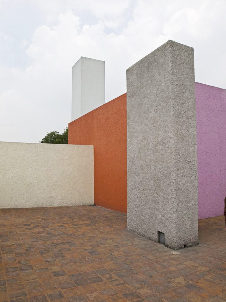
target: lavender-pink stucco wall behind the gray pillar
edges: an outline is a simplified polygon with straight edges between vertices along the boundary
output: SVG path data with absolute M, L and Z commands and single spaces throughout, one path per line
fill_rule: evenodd
M 226 90 L 195 83 L 199 219 L 224 214 Z

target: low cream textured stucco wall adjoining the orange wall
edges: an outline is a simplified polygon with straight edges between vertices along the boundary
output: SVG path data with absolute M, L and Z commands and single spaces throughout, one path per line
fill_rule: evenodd
M 0 208 L 93 203 L 93 146 L 0 142 Z

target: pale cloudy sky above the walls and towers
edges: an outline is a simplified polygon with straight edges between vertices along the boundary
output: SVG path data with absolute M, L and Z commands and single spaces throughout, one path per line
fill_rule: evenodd
M 225 16 L 225 0 L 0 0 L 0 141 L 64 131 L 81 56 L 105 61 L 105 102 L 168 40 L 194 48 L 196 82 L 226 88 Z

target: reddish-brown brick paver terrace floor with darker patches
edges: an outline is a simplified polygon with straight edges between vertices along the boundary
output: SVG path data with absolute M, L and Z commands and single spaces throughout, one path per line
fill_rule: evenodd
M 0 301 L 226 301 L 223 217 L 179 252 L 101 207 L 0 210 Z

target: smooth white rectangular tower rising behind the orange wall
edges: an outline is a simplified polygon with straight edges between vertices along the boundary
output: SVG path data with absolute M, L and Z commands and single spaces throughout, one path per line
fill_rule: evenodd
M 105 103 L 105 62 L 81 57 L 72 67 L 71 120 Z

